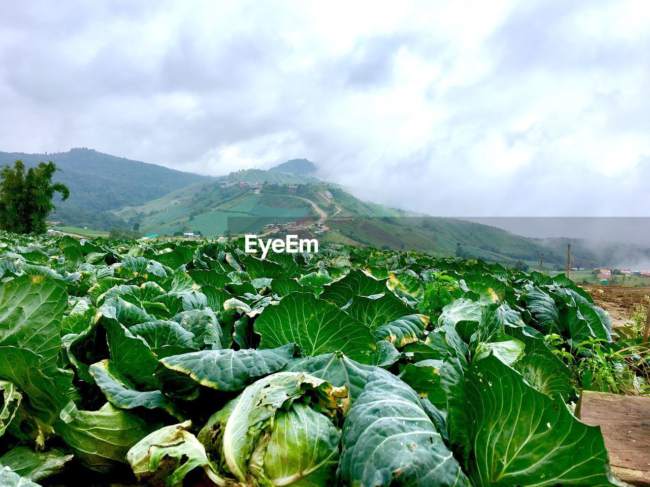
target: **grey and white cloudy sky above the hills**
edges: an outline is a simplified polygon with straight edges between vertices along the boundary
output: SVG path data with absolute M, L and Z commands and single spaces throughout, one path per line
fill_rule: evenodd
M 443 216 L 650 216 L 650 3 L 5 3 L 0 150 L 305 157 Z

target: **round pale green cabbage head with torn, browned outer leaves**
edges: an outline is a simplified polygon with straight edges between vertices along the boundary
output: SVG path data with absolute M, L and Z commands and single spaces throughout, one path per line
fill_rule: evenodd
M 279 372 L 253 383 L 198 434 L 208 477 L 222 486 L 327 486 L 339 462 L 346 395 L 305 373 Z

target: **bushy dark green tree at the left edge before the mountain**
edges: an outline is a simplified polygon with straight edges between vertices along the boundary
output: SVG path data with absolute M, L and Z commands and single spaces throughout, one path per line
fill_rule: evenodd
M 52 197 L 60 193 L 65 201 L 70 196 L 68 186 L 60 182 L 52 184 L 57 169 L 52 161 L 39 162 L 36 168 L 14 162 L 12 168 L 5 164 L 0 171 L 0 229 L 15 233 L 44 233 L 45 218 L 56 207 Z

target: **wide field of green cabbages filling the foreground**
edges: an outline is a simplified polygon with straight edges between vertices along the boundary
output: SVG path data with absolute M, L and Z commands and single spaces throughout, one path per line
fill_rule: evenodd
M 0 236 L 0 485 L 625 485 L 572 411 L 647 384 L 564 275 L 242 249 Z

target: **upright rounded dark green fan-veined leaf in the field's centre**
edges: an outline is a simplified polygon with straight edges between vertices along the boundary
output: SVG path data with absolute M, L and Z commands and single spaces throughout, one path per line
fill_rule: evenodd
M 267 306 L 254 329 L 261 336 L 261 348 L 296 343 L 305 355 L 341 351 L 362 363 L 368 363 L 376 349 L 366 325 L 311 293 L 291 293 L 279 305 Z

